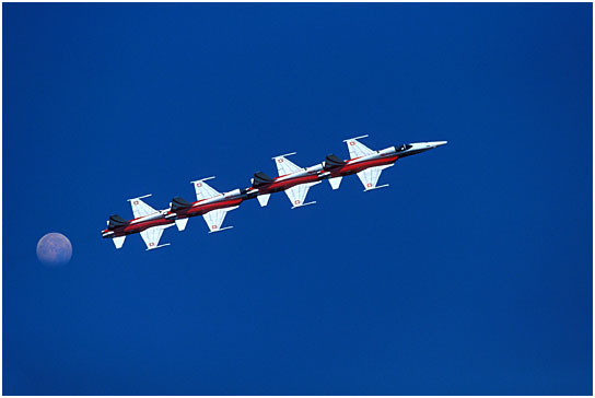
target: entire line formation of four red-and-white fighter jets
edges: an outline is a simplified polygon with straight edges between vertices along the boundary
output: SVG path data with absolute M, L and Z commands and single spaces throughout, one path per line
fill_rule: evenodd
M 322 163 L 311 167 L 300 167 L 288 159 L 295 153 L 275 156 L 272 160 L 279 176 L 273 178 L 257 172 L 248 188 L 221 194 L 206 183 L 214 177 L 191 182 L 196 201 L 189 202 L 184 198 L 175 197 L 170 208 L 165 210 L 155 210 L 142 200 L 151 195 L 128 199 L 135 218 L 126 220 L 117 214 L 110 215 L 107 229 L 102 231 L 102 236 L 112 238 L 116 248 L 119 249 L 126 236 L 140 233 L 147 250 L 152 250 L 170 245 L 168 243 L 159 244 L 165 229 L 176 225 L 178 231 L 184 231 L 188 219 L 192 216 L 202 215 L 209 226 L 209 233 L 232 229 L 233 226 L 222 227 L 226 213 L 237 209 L 247 199 L 256 198 L 260 206 L 265 207 L 271 194 L 284 191 L 291 201 L 292 209 L 296 209 L 316 203 L 315 201 L 306 202 L 307 191 L 313 186 L 327 179 L 332 189 L 339 189 L 341 179 L 352 174 L 358 175 L 364 191 L 388 187 L 388 184 L 377 185 L 381 173 L 385 168 L 394 166 L 399 159 L 425 152 L 447 142 L 416 142 L 373 151 L 359 141 L 366 137 L 361 136 L 343 141 L 349 149 L 350 159 L 348 160 L 329 154 Z

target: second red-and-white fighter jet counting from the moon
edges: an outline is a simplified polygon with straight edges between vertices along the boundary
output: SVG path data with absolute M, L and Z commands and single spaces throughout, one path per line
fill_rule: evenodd
M 228 211 L 237 209 L 244 200 L 256 196 L 256 192 L 250 195 L 245 189 L 234 189 L 220 194 L 205 183 L 212 178 L 214 177 L 191 182 L 196 191 L 196 202 L 190 203 L 180 197 L 172 199 L 170 211 L 165 218 L 175 220 L 179 231 L 184 231 L 188 219 L 196 215 L 202 215 L 209 226 L 209 233 L 233 229 L 233 226 L 221 227 Z

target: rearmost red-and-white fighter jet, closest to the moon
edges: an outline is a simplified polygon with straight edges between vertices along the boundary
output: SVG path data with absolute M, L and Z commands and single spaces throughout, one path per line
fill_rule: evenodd
M 144 195 L 128 199 L 135 219 L 127 221 L 117 214 L 110 215 L 107 221 L 107 229 L 102 231 L 102 236 L 112 238 L 116 248 L 121 248 L 127 235 L 137 233 L 140 233 L 144 241 L 147 250 L 170 245 L 168 243 L 160 245 L 159 241 L 163 231 L 174 225 L 174 221 L 165 218 L 167 210 L 155 210 L 141 200 L 150 196 Z

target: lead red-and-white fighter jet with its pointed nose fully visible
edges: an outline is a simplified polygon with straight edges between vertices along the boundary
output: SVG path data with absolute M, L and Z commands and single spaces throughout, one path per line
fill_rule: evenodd
M 416 142 L 400 147 L 389 147 L 380 151 L 373 151 L 361 143 L 360 139 L 366 136 L 345 140 L 349 149 L 350 159 L 343 161 L 334 154 L 326 156 L 324 169 L 332 189 L 338 189 L 341 178 L 351 174 L 358 174 L 363 184 L 364 191 L 388 187 L 388 184 L 376 186 L 383 169 L 394 166 L 401 157 L 415 155 L 447 143 L 447 141 Z

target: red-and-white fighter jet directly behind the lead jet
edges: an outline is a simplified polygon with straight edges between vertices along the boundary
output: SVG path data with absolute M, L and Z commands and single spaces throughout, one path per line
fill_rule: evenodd
M 257 199 L 261 207 L 267 206 L 270 194 L 281 190 L 285 191 L 291 201 L 292 209 L 316 203 L 316 201 L 305 203 L 305 200 L 308 189 L 322 183 L 320 175 L 324 173 L 323 164 L 320 163 L 312 167 L 300 167 L 287 159 L 287 156 L 294 154 L 295 152 L 292 152 L 272 157 L 279 173 L 279 177 L 277 178 L 269 177 L 262 172 L 254 174 L 252 188 L 248 188 L 248 191 L 257 194 Z

